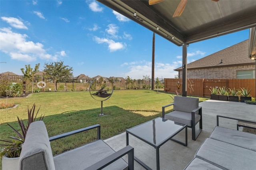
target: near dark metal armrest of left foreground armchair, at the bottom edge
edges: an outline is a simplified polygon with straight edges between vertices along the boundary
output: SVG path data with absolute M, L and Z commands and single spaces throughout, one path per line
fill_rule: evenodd
M 117 152 L 111 154 L 110 156 L 100 160 L 99 162 L 96 162 L 95 164 L 92 164 L 85 170 L 100 170 L 102 168 L 105 168 L 109 164 L 115 162 L 119 158 L 122 158 L 122 156 L 128 154 L 128 170 L 134 169 L 134 148 L 130 145 L 124 147 L 123 149 L 118 150 Z

